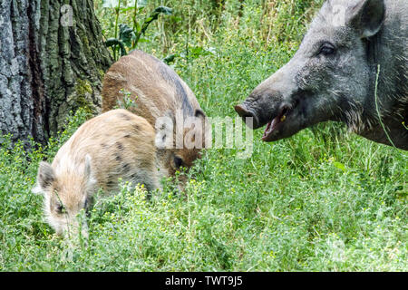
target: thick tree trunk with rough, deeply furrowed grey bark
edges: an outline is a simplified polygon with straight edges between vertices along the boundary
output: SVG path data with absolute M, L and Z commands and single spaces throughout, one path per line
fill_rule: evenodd
M 70 111 L 100 111 L 112 58 L 92 0 L 0 0 L 0 52 L 0 134 L 44 143 Z

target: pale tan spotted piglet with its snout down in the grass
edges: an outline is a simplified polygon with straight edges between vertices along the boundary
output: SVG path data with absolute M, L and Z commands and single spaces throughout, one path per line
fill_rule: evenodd
M 150 192 L 160 189 L 155 133 L 145 119 L 126 110 L 113 110 L 86 121 L 58 150 L 53 163 L 41 162 L 34 193 L 44 195 L 47 222 L 60 235 L 87 237 L 82 209 L 92 206 L 98 189 L 119 189 L 118 179 L 141 183 Z

